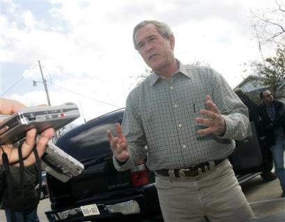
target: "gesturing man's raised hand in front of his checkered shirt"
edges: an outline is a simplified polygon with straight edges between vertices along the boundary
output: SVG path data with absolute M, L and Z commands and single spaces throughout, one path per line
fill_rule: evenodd
M 196 118 L 196 121 L 207 125 L 206 129 L 199 129 L 197 134 L 215 134 L 217 136 L 222 136 L 226 132 L 226 122 L 222 118 L 221 113 L 217 106 L 210 99 L 210 95 L 206 95 L 206 106 L 207 109 L 201 109 L 201 115 L 206 118 Z

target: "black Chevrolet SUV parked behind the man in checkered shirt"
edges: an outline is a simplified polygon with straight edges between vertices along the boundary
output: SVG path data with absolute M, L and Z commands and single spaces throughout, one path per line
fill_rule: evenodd
M 114 125 L 122 118 L 123 109 L 107 113 L 59 138 L 56 145 L 81 161 L 85 169 L 66 183 L 47 174 L 52 203 L 52 210 L 45 212 L 49 221 L 101 221 L 113 217 L 125 220 L 131 216 L 132 221 L 161 219 L 155 175 L 144 161 L 125 172 L 118 172 L 113 166 L 106 130 L 116 134 Z M 253 135 L 238 142 L 229 159 L 240 182 L 261 172 L 263 179 L 272 180 L 272 159 L 259 144 L 254 122 L 252 130 Z

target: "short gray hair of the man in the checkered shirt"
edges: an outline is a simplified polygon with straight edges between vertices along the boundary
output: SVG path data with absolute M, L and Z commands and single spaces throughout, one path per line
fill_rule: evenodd
M 138 50 L 137 42 L 134 38 L 134 35 L 137 33 L 139 29 L 141 29 L 141 27 L 146 26 L 147 24 L 153 24 L 157 32 L 160 33 L 160 35 L 162 35 L 162 37 L 167 40 L 169 39 L 170 35 L 173 34 L 169 26 L 163 22 L 158 22 L 155 20 L 145 20 L 139 22 L 139 24 L 137 24 L 137 26 L 134 27 L 134 31 L 132 32 L 132 41 L 134 42 L 134 49 Z

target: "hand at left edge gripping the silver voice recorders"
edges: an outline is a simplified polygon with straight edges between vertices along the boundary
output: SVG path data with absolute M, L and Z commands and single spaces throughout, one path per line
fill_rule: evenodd
M 0 98 L 0 114 L 1 115 L 12 115 L 13 113 L 24 109 L 24 104 L 15 100 L 8 100 Z M 22 155 L 24 158 L 24 166 L 29 166 L 36 162 L 35 155 L 33 154 L 33 146 L 36 144 L 39 157 L 42 157 L 47 142 L 54 136 L 54 129 L 45 129 L 40 134 L 38 142 L 36 142 L 36 129 L 30 129 L 26 132 L 26 140 L 22 144 Z M 19 161 L 19 155 L 17 149 L 13 148 L 12 145 L 1 145 L 0 157 L 3 152 L 6 152 L 10 164 L 17 164 Z M 2 158 L 0 158 L 0 166 L 3 165 Z

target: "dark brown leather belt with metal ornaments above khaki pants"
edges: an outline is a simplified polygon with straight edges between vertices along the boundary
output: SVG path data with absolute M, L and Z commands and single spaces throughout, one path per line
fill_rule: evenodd
M 219 165 L 224 160 L 225 159 L 218 159 L 214 161 L 208 161 L 203 164 L 199 164 L 197 166 L 190 166 L 188 168 L 174 169 L 174 170 L 162 169 L 155 172 L 159 175 L 167 177 L 180 177 L 180 178 L 196 177 L 197 175 L 210 171 L 214 166 Z

